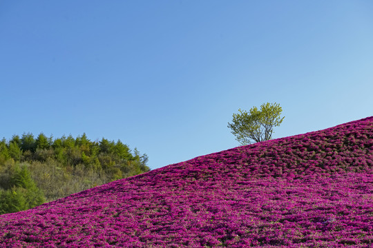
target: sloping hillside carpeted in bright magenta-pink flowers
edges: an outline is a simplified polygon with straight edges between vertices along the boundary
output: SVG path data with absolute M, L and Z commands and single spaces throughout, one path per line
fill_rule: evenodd
M 0 247 L 373 247 L 373 117 L 1 215 Z

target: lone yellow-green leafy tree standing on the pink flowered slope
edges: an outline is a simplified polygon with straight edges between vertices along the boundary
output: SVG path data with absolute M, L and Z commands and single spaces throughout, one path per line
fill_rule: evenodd
M 252 107 L 250 112 L 238 110 L 233 114 L 232 123 L 228 123 L 231 133 L 242 145 L 249 145 L 251 141 L 268 141 L 272 137 L 273 128 L 280 125 L 285 117 L 280 117 L 283 109 L 277 103 L 263 103 L 260 110 Z

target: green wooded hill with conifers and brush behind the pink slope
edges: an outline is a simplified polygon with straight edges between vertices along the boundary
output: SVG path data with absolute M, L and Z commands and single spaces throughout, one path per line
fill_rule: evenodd
M 113 180 L 149 172 L 148 156 L 122 141 L 86 134 L 0 141 L 0 214 L 35 207 Z

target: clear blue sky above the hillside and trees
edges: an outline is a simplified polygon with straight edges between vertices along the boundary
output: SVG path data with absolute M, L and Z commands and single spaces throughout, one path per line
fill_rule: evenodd
M 0 94 L 0 138 L 120 139 L 151 169 L 237 147 L 239 108 L 321 130 L 373 116 L 373 2 L 0 0 Z

